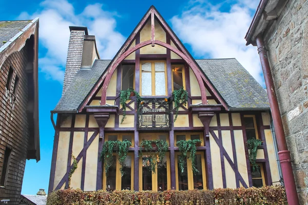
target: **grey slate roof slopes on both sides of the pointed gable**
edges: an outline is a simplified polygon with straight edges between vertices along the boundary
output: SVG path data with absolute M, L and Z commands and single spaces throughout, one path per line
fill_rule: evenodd
M 79 70 L 54 111 L 76 112 L 111 60 L 95 60 L 91 69 Z M 196 60 L 226 101 L 229 110 L 269 109 L 265 90 L 235 58 Z

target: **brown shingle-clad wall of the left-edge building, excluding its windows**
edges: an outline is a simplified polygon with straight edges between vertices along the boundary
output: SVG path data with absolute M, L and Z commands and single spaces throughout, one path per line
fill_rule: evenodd
M 8 166 L 8 177 L 5 187 L 0 187 L 0 200 L 10 199 L 8 204 L 18 204 L 28 149 L 27 101 L 28 82 L 26 46 L 19 52 L 11 54 L 0 68 L 0 175 L 3 169 L 6 146 L 12 148 Z M 10 66 L 14 69 L 10 90 L 6 82 Z M 16 88 L 16 99 L 12 95 L 16 75 L 19 83 Z

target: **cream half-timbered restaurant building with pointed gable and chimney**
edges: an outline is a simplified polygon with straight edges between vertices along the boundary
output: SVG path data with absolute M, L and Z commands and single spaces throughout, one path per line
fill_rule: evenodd
M 196 39 L 198 40 L 198 39 Z M 133 88 L 126 101 L 120 91 Z M 172 91 L 184 88 L 187 105 L 175 117 Z M 51 111 L 55 128 L 49 192 L 70 186 L 93 190 L 192 190 L 277 185 L 275 135 L 267 94 L 235 58 L 194 59 L 163 17 L 150 7 L 112 60 L 100 59 L 95 36 L 70 27 L 63 94 Z M 56 120 L 53 119 L 57 114 Z M 247 139 L 260 139 L 251 169 Z M 114 160 L 108 174 L 100 160 L 108 140 L 129 140 L 126 172 Z M 156 172 L 139 156 L 142 140 L 162 139 L 168 151 Z M 179 140 L 200 139 L 193 173 L 178 166 Z M 146 155 L 146 153 L 144 153 Z M 114 154 L 117 158 L 117 154 Z

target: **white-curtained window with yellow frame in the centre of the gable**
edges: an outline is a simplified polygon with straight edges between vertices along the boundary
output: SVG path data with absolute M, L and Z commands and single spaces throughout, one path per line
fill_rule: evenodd
M 141 95 L 167 94 L 166 61 L 141 61 Z

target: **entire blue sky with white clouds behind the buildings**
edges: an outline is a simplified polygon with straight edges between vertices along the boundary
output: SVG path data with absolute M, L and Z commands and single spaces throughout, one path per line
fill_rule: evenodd
M 258 0 L 225 1 L 22 1 L 0 7 L 0 20 L 40 18 L 39 111 L 41 160 L 27 160 L 23 194 L 48 190 L 54 130 L 50 121 L 61 97 L 69 40 L 68 26 L 87 26 L 102 59 L 111 59 L 144 13 L 154 5 L 195 58 L 231 58 L 264 87 L 257 49 L 244 36 Z M 4 0 L 2 5 L 11 5 Z M 14 9 L 12 9 L 14 8 Z

